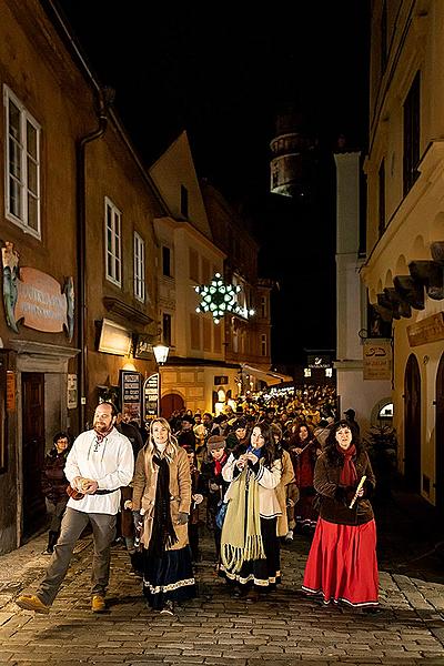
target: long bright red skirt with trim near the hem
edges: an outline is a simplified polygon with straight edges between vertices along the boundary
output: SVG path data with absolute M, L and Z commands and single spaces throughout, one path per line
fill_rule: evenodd
M 335 525 L 319 518 L 302 589 L 324 603 L 377 606 L 376 525 Z

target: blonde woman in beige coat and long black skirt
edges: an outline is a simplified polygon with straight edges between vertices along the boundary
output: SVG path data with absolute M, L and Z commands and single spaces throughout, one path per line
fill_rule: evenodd
M 132 511 L 142 525 L 143 594 L 154 610 L 174 614 L 174 603 L 195 596 L 188 545 L 191 474 L 186 452 L 170 424 L 155 418 L 138 455 Z

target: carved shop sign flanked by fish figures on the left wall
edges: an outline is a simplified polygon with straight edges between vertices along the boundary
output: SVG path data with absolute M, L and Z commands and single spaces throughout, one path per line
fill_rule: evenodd
M 63 329 L 69 340 L 74 333 L 74 285 L 67 278 L 63 287 L 51 275 L 31 266 L 19 266 L 19 253 L 7 241 L 1 248 L 3 304 L 8 326 L 18 324 L 47 333 Z

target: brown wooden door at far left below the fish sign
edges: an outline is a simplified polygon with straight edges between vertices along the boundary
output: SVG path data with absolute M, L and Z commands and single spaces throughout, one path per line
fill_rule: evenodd
M 46 522 L 40 487 L 44 461 L 44 374 L 22 373 L 23 538 Z

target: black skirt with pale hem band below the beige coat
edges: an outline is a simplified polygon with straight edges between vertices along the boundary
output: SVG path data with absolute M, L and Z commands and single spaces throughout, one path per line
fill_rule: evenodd
M 165 551 L 162 557 L 143 551 L 143 594 L 154 610 L 161 610 L 167 601 L 183 602 L 195 597 L 190 546 Z

